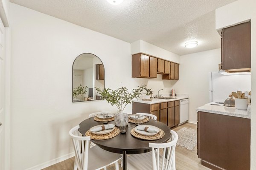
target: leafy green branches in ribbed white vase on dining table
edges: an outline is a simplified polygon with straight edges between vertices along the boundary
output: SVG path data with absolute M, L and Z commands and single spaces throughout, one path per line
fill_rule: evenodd
M 128 125 L 128 114 L 124 113 L 123 110 L 125 109 L 126 105 L 132 103 L 132 99 L 138 99 L 138 97 L 142 94 L 145 86 L 146 85 L 138 86 L 131 92 L 128 92 L 126 87 L 121 87 L 117 90 L 112 90 L 110 88 L 101 90 L 100 88 L 96 88 L 96 91 L 102 96 L 102 99 L 106 100 L 112 106 L 115 105 L 117 107 L 118 113 L 115 115 L 116 126 L 120 126 L 121 120 L 125 120 L 126 125 Z

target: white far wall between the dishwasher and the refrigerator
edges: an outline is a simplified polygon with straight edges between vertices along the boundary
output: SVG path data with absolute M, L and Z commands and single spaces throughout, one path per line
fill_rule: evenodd
M 218 71 L 220 48 L 180 56 L 180 79 L 174 85 L 177 93 L 189 94 L 189 121 L 197 122 L 196 108 L 209 103 L 208 73 Z

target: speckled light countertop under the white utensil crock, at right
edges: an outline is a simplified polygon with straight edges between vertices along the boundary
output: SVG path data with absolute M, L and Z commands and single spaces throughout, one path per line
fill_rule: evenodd
M 239 110 L 233 107 L 226 107 L 226 106 L 215 106 L 215 105 L 203 105 L 196 109 L 196 111 L 208 112 L 208 113 L 215 113 L 215 114 L 222 114 L 227 116 L 236 116 L 246 119 L 251 119 L 251 105 L 248 105 L 247 110 Z

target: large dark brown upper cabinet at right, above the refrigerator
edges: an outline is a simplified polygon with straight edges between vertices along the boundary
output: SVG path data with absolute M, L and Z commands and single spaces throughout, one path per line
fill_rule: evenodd
M 251 68 L 251 23 L 224 28 L 221 34 L 221 63 L 226 72 L 245 72 Z

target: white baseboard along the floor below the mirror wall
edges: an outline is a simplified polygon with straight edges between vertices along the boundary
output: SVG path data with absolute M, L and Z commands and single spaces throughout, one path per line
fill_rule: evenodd
M 47 162 L 44 162 L 44 163 L 42 163 L 42 164 L 35 165 L 34 167 L 30 167 L 30 168 L 28 168 L 28 169 L 26 169 L 26 170 L 41 170 L 41 169 L 44 169 L 44 168 L 46 168 L 46 167 L 49 167 L 49 166 L 51 166 L 51 165 L 53 165 L 53 164 L 57 164 L 57 163 L 59 163 L 59 162 L 61 162 L 61 161 L 64 161 L 64 160 L 66 160 L 66 159 L 70 159 L 70 158 L 72 158 L 73 156 L 75 156 L 75 153 L 74 153 L 74 152 L 73 152 L 73 153 L 69 153 L 69 154 L 64 155 L 64 156 L 61 156 L 61 157 L 58 157 L 58 158 L 56 158 L 56 159 L 52 159 L 52 160 L 47 161 Z

